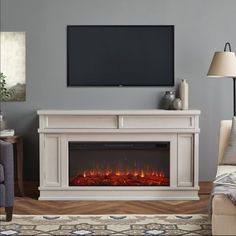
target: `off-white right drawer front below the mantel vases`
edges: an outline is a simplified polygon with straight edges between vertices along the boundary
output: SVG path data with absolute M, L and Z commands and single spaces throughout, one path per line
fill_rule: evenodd
M 119 127 L 127 129 L 194 128 L 193 116 L 120 116 Z

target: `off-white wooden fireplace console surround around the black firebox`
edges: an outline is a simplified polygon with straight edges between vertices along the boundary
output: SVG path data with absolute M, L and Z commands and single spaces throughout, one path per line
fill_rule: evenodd
M 38 115 L 40 200 L 199 199 L 199 110 L 39 110 Z M 69 146 L 76 142 L 165 142 L 169 185 L 71 186 Z

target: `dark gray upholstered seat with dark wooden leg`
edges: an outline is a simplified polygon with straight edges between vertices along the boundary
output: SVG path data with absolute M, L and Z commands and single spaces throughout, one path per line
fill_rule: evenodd
M 0 140 L 0 207 L 5 207 L 6 221 L 12 220 L 14 202 L 13 146 Z

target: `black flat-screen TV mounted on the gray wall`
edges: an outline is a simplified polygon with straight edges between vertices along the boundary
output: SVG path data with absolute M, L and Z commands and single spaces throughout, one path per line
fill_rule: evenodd
M 68 86 L 173 86 L 173 25 L 67 27 Z

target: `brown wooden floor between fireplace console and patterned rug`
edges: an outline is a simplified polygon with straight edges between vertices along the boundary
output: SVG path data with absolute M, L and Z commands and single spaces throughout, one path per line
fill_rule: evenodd
M 25 197 L 15 198 L 14 214 L 207 214 L 211 187 L 200 183 L 199 201 L 38 201 L 31 185 Z

